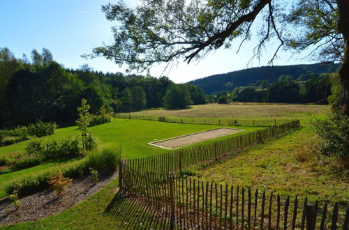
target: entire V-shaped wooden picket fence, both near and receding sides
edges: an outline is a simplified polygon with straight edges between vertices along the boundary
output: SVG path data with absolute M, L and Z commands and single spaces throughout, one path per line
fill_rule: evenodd
M 299 121 L 230 137 L 211 144 L 135 160 L 121 160 L 120 192 L 163 213 L 165 229 L 348 229 L 349 210 L 339 204 L 187 178 L 248 146 L 299 128 Z

